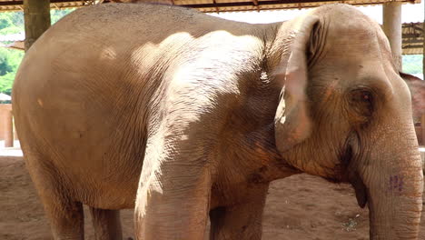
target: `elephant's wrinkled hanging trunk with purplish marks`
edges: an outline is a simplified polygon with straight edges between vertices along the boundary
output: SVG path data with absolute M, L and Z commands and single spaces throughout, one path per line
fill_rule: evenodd
M 423 175 L 410 125 L 404 130 L 389 127 L 382 131 L 361 171 L 374 240 L 418 238 Z

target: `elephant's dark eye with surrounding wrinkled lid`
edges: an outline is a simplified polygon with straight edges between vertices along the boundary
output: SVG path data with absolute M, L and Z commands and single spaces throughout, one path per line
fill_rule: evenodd
M 349 95 L 350 107 L 348 111 L 352 111 L 351 120 L 356 122 L 368 122 L 373 113 L 373 94 L 369 89 L 354 89 Z M 354 115 L 352 115 L 354 114 Z

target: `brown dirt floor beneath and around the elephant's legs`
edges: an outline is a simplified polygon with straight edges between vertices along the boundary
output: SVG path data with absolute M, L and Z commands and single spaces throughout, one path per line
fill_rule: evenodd
M 132 214 L 122 211 L 124 239 L 133 237 Z M 88 216 L 86 233 L 94 239 L 89 224 Z M 423 219 L 421 229 L 419 239 L 425 239 Z M 51 239 L 43 207 L 19 156 L 0 156 L 0 239 Z M 357 205 L 349 185 L 295 175 L 272 184 L 262 239 L 369 239 L 368 210 Z

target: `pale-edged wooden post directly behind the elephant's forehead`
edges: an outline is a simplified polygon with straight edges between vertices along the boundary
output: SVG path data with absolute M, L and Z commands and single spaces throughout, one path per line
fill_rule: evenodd
M 394 62 L 402 69 L 401 58 L 401 3 L 390 2 L 382 6 L 383 11 L 383 31 L 390 41 L 390 47 Z

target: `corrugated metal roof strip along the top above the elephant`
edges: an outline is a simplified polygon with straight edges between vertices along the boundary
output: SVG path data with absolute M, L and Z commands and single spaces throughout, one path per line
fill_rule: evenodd
M 146 0 L 146 2 L 149 1 L 155 2 L 155 0 Z M 113 0 L 50 0 L 50 6 L 53 9 L 60 9 L 109 2 L 113 2 Z M 305 8 L 330 3 L 344 3 L 351 5 L 380 5 L 387 2 L 420 3 L 420 0 L 170 0 L 170 2 L 173 3 L 173 5 L 197 8 L 205 13 L 219 13 Z M 22 10 L 22 0 L 0 0 L 0 12 Z

